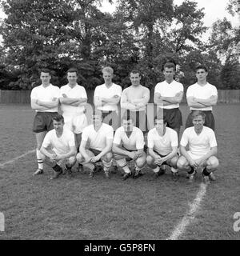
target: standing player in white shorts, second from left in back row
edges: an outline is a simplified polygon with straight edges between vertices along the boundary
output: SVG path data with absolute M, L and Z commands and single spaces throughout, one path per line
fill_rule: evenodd
M 78 71 L 70 68 L 66 72 L 68 84 L 60 88 L 60 102 L 65 126 L 74 132 L 76 146 L 80 145 L 82 130 L 87 126 L 85 105 L 87 101 L 86 90 L 78 85 Z

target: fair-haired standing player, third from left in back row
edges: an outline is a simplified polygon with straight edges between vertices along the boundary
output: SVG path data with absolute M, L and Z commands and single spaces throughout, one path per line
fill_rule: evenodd
M 104 84 L 94 90 L 94 105 L 102 111 L 103 122 L 118 129 L 118 103 L 122 94 L 122 87 L 114 84 L 112 78 L 114 70 L 110 66 L 102 69 Z

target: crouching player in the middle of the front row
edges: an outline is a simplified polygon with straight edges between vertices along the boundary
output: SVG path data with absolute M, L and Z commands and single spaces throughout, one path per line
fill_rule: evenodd
M 146 163 L 146 154 L 144 148 L 144 138 L 142 130 L 134 126 L 134 121 L 130 115 L 124 114 L 122 118 L 122 126 L 119 127 L 114 135 L 113 152 L 114 158 L 118 166 L 122 167 L 125 174 L 122 179 L 126 180 L 131 175 L 129 166 L 126 161 L 131 159 L 135 162 L 135 170 L 133 178 L 142 176 L 142 167 Z

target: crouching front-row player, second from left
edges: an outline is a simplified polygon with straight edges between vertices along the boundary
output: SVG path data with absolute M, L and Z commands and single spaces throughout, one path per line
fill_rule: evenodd
M 106 178 L 110 178 L 109 171 L 113 154 L 111 153 L 114 139 L 112 126 L 102 123 L 102 112 L 97 110 L 93 114 L 93 124 L 82 131 L 77 160 L 90 169 L 90 178 L 94 177 L 96 163 L 102 161 Z

